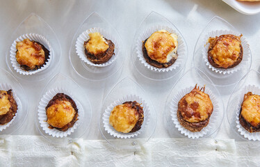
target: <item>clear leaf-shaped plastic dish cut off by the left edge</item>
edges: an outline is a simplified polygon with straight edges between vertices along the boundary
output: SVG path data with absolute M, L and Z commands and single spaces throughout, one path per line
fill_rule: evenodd
M 6 129 L 3 129 L 0 134 L 12 134 L 16 132 L 24 123 L 26 120 L 26 117 L 28 115 L 28 98 L 26 93 L 24 92 L 24 89 L 22 88 L 21 84 L 19 84 L 19 81 L 13 77 L 12 74 L 4 70 L 0 67 L 0 84 L 7 84 L 13 89 L 13 92 L 17 96 L 17 105 L 18 111 L 15 116 L 15 120 L 10 124 L 9 127 L 6 127 Z

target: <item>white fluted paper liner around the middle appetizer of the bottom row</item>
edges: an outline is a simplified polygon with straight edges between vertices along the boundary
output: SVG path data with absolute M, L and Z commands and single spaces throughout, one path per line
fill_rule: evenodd
M 114 107 L 120 104 L 123 104 L 124 102 L 129 102 L 129 101 L 136 101 L 143 106 L 143 112 L 144 112 L 144 122 L 141 127 L 137 132 L 133 133 L 127 133 L 124 134 L 122 132 L 117 132 L 110 124 L 109 124 L 109 117 L 111 114 L 111 111 L 113 111 Z M 147 126 L 149 119 L 150 119 L 150 114 L 149 114 L 149 106 L 147 106 L 147 103 L 145 100 L 143 100 L 141 97 L 138 95 L 127 95 L 125 97 L 122 97 L 120 100 L 116 100 L 115 102 L 111 103 L 110 106 L 108 106 L 103 114 L 103 123 L 104 123 L 104 128 L 108 132 L 108 134 L 111 134 L 111 136 L 117 137 L 117 138 L 133 138 L 134 136 L 138 136 L 138 134 L 142 133 L 145 127 Z

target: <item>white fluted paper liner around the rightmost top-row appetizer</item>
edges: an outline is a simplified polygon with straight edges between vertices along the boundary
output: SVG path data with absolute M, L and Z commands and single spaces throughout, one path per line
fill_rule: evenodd
M 225 35 L 225 34 L 233 34 L 233 35 L 237 35 L 237 36 L 241 35 L 241 33 L 237 33 L 235 31 L 217 30 L 217 31 L 209 32 L 205 36 L 204 41 L 205 42 L 208 41 L 210 37 L 215 38 L 216 36 Z M 222 69 L 222 68 L 213 67 L 213 65 L 211 65 L 211 63 L 209 63 L 209 60 L 208 60 L 209 42 L 206 43 L 206 45 L 204 45 L 204 47 L 202 49 L 202 55 L 203 55 L 204 62 L 206 63 L 206 66 L 209 67 L 209 69 L 211 69 L 212 71 L 218 72 L 220 74 L 231 74 L 231 73 L 237 72 L 238 70 L 243 69 L 243 67 L 245 67 L 247 65 L 247 62 L 250 58 L 250 48 L 249 48 L 249 45 L 247 44 L 247 40 L 245 40 L 245 38 L 243 36 L 241 37 L 241 45 L 243 47 L 243 59 L 242 59 L 241 63 L 236 65 L 236 67 L 232 67 L 229 69 Z

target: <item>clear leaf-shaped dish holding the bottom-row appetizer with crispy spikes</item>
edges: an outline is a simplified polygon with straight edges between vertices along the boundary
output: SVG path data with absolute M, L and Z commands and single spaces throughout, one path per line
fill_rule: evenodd
M 203 76 L 205 80 L 203 80 L 201 76 Z M 183 95 L 185 95 L 186 93 L 189 93 L 195 87 L 196 84 L 197 86 L 200 86 L 200 88 L 205 86 L 205 93 L 210 93 L 209 95 L 211 95 L 210 98 L 213 103 L 213 113 L 211 114 L 211 118 L 209 119 L 209 125 L 204 127 L 201 132 L 190 133 L 185 132 L 188 130 L 182 128 L 181 125 L 179 126 L 174 122 L 173 114 L 177 115 L 177 110 L 173 111 L 172 106 L 178 106 L 178 102 L 181 99 L 181 97 L 183 97 Z M 181 91 L 186 90 L 187 88 L 188 91 L 185 91 L 184 94 L 181 94 Z M 188 138 L 208 137 L 214 133 L 216 134 L 218 128 L 222 123 L 224 111 L 225 109 L 220 93 L 218 92 L 216 86 L 214 86 L 211 79 L 209 79 L 209 77 L 207 77 L 206 74 L 204 74 L 204 72 L 202 72 L 200 69 L 192 67 L 177 81 L 177 83 L 173 86 L 172 90 L 170 91 L 170 95 L 168 95 L 164 111 L 164 116 L 166 120 L 165 127 L 168 129 L 168 133 L 172 138 L 184 138 L 186 136 L 188 136 Z

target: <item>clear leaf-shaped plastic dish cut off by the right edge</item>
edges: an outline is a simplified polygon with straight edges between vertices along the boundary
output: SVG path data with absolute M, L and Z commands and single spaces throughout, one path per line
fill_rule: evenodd
M 233 92 L 229 97 L 227 104 L 227 120 L 231 126 L 231 131 L 236 136 L 239 136 L 243 140 L 260 141 L 260 133 L 247 132 L 240 124 L 238 116 L 243 102 L 245 93 L 252 92 L 253 94 L 260 95 L 260 73 L 255 70 L 250 70 L 235 86 Z M 236 138 L 238 139 L 238 138 Z

